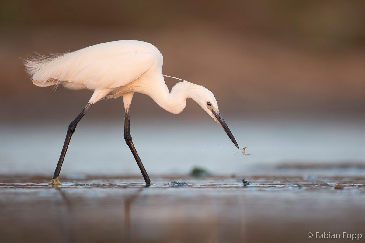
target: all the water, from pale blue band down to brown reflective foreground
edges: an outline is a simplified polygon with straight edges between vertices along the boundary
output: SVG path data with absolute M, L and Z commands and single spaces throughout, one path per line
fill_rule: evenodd
M 365 241 L 364 119 L 225 117 L 250 156 L 210 117 L 131 119 L 149 187 L 123 121 L 80 122 L 59 187 L 47 183 L 68 122 L 1 126 L 0 242 Z

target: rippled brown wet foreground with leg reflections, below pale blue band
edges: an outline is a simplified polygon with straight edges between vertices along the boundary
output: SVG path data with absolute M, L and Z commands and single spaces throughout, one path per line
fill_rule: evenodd
M 364 177 L 250 176 L 249 186 L 242 179 L 151 177 L 145 187 L 140 177 L 78 176 L 52 187 L 48 177 L 2 176 L 1 242 L 323 240 L 315 232 L 365 241 Z

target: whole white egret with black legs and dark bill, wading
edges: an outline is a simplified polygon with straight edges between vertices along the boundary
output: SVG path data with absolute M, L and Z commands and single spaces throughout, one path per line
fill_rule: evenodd
M 141 169 L 146 184 L 151 180 L 133 145 L 129 130 L 129 111 L 134 92 L 149 95 L 163 109 L 178 114 L 192 98 L 222 126 L 238 148 L 237 142 L 218 110 L 217 101 L 211 91 L 203 86 L 183 81 L 169 92 L 162 75 L 162 54 L 150 43 L 137 40 L 119 40 L 89 46 L 74 52 L 54 55 L 50 58 L 38 56 L 26 60 L 26 70 L 37 86 L 63 85 L 67 89 L 89 89 L 94 93 L 87 106 L 68 127 L 64 146 L 52 181 L 58 185 L 58 176 L 77 123 L 100 99 L 123 96 L 125 120 L 124 139 Z

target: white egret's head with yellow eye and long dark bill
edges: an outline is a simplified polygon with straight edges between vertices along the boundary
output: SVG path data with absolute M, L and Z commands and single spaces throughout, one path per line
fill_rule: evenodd
M 220 115 L 220 112 L 218 110 L 218 104 L 214 97 L 214 94 L 206 89 L 203 86 L 195 85 L 193 89 L 191 90 L 191 97 L 193 100 L 198 103 L 203 110 L 207 111 L 208 114 L 210 114 L 213 119 L 215 119 L 216 122 L 219 123 L 219 125 L 224 129 L 224 132 L 227 133 L 228 137 L 231 138 L 234 145 L 238 148 L 238 144 L 233 137 L 231 131 L 229 130 L 226 122 L 224 121 L 222 115 Z

